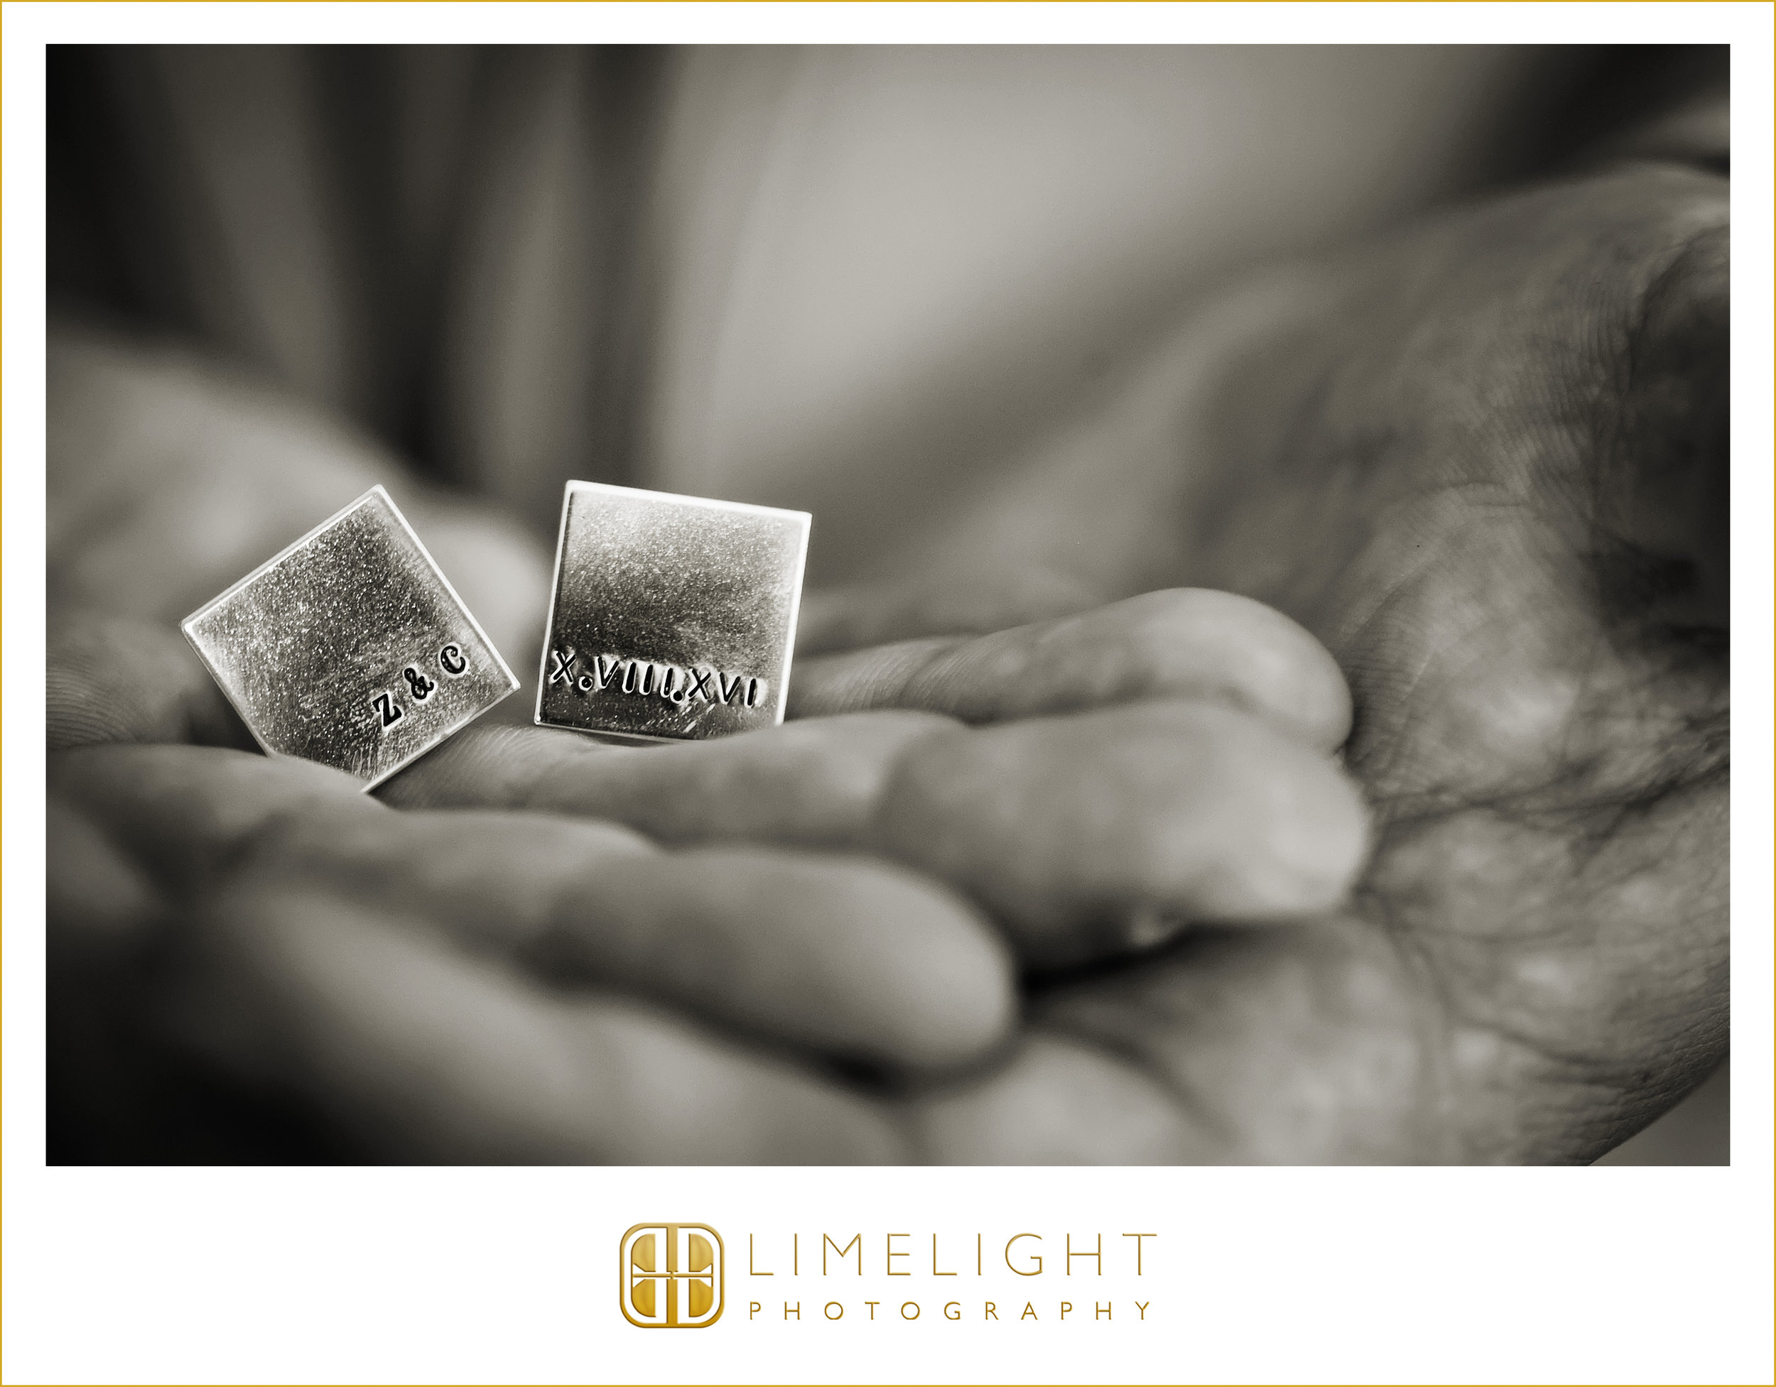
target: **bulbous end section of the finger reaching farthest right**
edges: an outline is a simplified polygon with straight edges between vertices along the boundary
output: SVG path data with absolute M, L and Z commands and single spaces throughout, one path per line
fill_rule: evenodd
M 987 904 L 1041 964 L 1153 918 L 1266 922 L 1344 897 L 1368 810 L 1332 762 L 1209 703 L 1137 703 L 922 739 L 883 851 Z

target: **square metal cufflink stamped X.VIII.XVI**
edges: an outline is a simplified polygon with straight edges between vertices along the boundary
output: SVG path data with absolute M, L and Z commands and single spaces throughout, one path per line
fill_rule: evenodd
M 536 721 L 641 741 L 781 723 L 808 522 L 570 481 Z

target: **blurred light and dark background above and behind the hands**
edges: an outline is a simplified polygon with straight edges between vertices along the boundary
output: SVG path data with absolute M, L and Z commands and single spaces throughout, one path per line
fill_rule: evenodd
M 813 510 L 810 581 L 867 575 L 1241 268 L 1661 112 L 1682 144 L 1669 112 L 1724 69 L 1646 46 L 62 46 L 52 314 L 229 362 L 538 536 L 567 478 L 648 485 Z M 1609 1160 L 1724 1161 L 1724 1067 Z

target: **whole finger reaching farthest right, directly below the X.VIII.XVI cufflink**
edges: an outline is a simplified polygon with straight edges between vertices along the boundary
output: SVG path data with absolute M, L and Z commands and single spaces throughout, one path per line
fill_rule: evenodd
M 879 852 L 986 904 L 1037 963 L 1122 950 L 1154 922 L 1325 909 L 1368 849 L 1368 810 L 1330 760 L 1209 703 L 991 728 L 883 717 L 662 749 L 469 732 L 391 794 Z

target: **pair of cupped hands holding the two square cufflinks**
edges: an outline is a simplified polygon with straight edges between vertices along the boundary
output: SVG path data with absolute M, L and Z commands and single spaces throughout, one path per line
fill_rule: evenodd
M 69 1025 L 128 1016 L 394 1156 L 1590 1160 L 1726 1041 L 1724 304 L 1726 183 L 1655 165 L 1266 273 L 909 545 L 916 583 L 812 593 L 801 721 L 664 751 L 478 728 L 391 783 L 401 815 L 323 771 L 96 746 L 226 739 L 142 623 L 263 554 L 206 552 L 176 488 L 123 529 L 52 494 L 52 593 L 124 622 L 69 614 L 52 652 Z M 87 423 L 52 373 L 52 440 L 98 495 L 80 382 L 144 368 L 69 350 Z M 231 494 L 245 549 L 385 465 L 155 369 L 227 405 L 192 419 L 316 455 Z M 414 519 L 522 661 L 538 556 Z M 140 581 L 131 545 L 179 558 Z M 1353 712 L 1288 620 L 1174 590 L 1298 622 Z M 91 652 L 130 641 L 124 716 Z M 1032 682 L 1057 646 L 1092 659 Z M 1346 719 L 1368 833 L 1323 757 Z M 725 796 L 764 810 L 751 842 Z M 1225 836 L 1177 872 L 1154 820 Z

